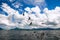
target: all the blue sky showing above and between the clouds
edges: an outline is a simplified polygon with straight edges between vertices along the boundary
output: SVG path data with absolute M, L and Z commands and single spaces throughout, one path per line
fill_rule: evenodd
M 20 6 L 19 8 L 15 8 L 12 4 L 15 2 L 19 2 L 21 4 L 23 4 L 23 6 Z M 28 0 L 26 0 L 26 2 L 28 2 Z M 2 3 L 7 3 L 11 8 L 18 10 L 20 13 L 24 12 L 24 8 L 26 7 L 34 7 L 35 5 L 32 5 L 32 3 L 25 3 L 24 0 L 14 0 L 13 2 L 10 2 L 8 0 L 0 0 L 0 7 L 2 5 Z M 45 0 L 46 6 L 49 10 L 54 9 L 56 6 L 60 6 L 60 0 Z M 44 4 L 45 5 L 45 4 Z M 41 9 L 45 8 L 44 5 L 41 6 Z M 19 10 L 21 9 L 21 10 Z M 1 8 L 0 8 L 0 12 L 2 14 L 6 14 L 8 15 L 6 12 L 4 12 Z

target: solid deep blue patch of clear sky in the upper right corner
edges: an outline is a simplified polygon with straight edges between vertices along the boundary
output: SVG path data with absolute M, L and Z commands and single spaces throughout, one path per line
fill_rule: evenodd
M 60 6 L 60 0 L 46 0 L 48 9 L 54 9 L 56 6 Z

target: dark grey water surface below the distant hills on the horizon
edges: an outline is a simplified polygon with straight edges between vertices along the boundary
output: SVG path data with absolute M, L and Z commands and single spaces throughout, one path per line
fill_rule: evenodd
M 0 40 L 60 40 L 60 30 L 0 30 Z

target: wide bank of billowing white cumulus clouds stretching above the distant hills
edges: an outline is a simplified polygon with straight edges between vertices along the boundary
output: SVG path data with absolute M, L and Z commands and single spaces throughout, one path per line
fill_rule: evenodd
M 26 7 L 22 14 L 19 14 L 17 10 L 12 9 L 6 3 L 3 3 L 1 8 L 8 13 L 8 16 L 0 14 L 0 28 L 60 28 L 60 7 L 53 10 L 45 8 L 43 14 L 41 14 L 39 6 Z M 32 14 L 32 12 L 35 14 Z

